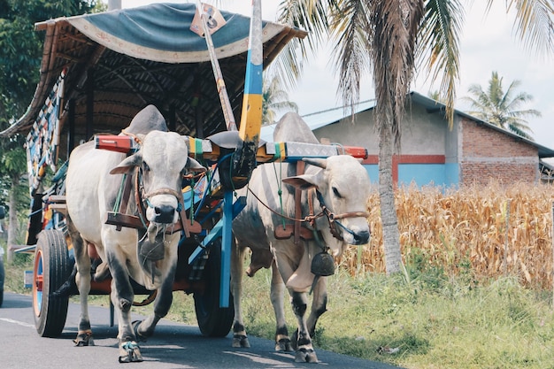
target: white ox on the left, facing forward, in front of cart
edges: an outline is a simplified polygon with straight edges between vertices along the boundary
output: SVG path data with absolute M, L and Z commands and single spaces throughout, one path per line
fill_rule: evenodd
M 142 361 L 140 338 L 154 333 L 173 301 L 172 288 L 177 263 L 180 232 L 165 232 L 179 219 L 183 175 L 188 170 L 204 170 L 188 156 L 187 137 L 166 132 L 165 119 L 153 105 L 139 111 L 126 132 L 141 141 L 140 150 L 126 154 L 95 149 L 87 142 L 73 150 L 67 176 L 67 220 L 77 266 L 76 283 L 81 295 L 81 318 L 77 346 L 94 344 L 88 319 L 88 293 L 91 257 L 98 255 L 103 264 L 96 269 L 96 279 L 112 274 L 112 303 L 118 315 L 119 362 Z M 137 172 L 142 181 L 142 199 L 148 231 L 105 224 L 113 211 L 122 184 L 122 175 Z M 127 213 L 137 214 L 135 181 L 129 196 Z M 125 210 L 122 210 L 123 212 Z M 131 322 L 134 289 L 130 278 L 149 290 L 158 290 L 154 313 L 142 322 Z

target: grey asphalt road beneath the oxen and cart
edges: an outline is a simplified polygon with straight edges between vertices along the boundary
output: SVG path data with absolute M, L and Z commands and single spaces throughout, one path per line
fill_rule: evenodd
M 0 308 L 0 367 L 2 369 L 73 369 L 99 367 L 102 369 L 129 366 L 142 369 L 206 368 L 206 369 L 266 369 L 266 368 L 364 368 L 398 369 L 396 366 L 375 363 L 355 357 L 338 355 L 326 350 L 316 352 L 318 364 L 295 363 L 290 353 L 273 350 L 273 342 L 250 336 L 250 349 L 231 347 L 231 335 L 224 338 L 204 337 L 198 327 L 159 322 L 156 333 L 142 342 L 142 363 L 119 364 L 117 324 L 109 326 L 108 309 L 90 306 L 90 319 L 96 346 L 74 347 L 77 334 L 79 306 L 70 304 L 65 329 L 59 338 L 42 338 L 35 330 L 31 297 L 4 294 Z M 140 316 L 136 316 L 140 319 Z

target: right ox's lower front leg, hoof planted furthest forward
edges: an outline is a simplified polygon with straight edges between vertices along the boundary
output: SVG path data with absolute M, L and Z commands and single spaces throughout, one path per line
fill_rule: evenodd
M 298 323 L 298 336 L 293 342 L 296 345 L 295 361 L 297 363 L 317 363 L 318 357 L 312 346 L 312 337 L 308 332 L 306 325 L 305 313 L 307 310 L 308 299 L 304 292 L 291 292 L 292 296 L 292 310 L 295 313 Z

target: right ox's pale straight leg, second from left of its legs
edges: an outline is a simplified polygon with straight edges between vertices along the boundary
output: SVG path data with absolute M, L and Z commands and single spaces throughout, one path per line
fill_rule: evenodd
M 287 328 L 287 321 L 285 319 L 285 283 L 283 282 L 281 273 L 279 273 L 279 269 L 277 269 L 274 260 L 272 264 L 270 296 L 277 323 L 277 328 L 275 330 L 275 351 L 292 351 L 289 329 Z

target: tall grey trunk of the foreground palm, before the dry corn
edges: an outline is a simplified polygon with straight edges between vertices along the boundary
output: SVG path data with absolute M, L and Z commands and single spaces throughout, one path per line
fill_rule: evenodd
M 400 122 L 413 79 L 423 0 L 371 2 L 375 119 L 379 127 L 379 198 L 387 273 L 399 272 L 402 256 L 392 178 L 392 156 L 400 148 Z M 396 145 L 397 144 L 397 145 Z

